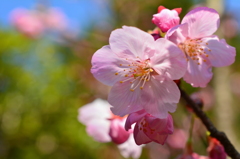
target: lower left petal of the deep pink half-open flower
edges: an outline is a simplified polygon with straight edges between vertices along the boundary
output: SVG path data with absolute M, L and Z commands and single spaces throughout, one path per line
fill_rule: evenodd
M 133 131 L 136 144 L 142 145 L 142 144 L 147 144 L 149 142 L 152 142 L 152 140 L 149 137 L 147 137 L 147 135 L 143 131 L 139 130 L 138 124 L 139 123 L 135 125 L 134 131 Z

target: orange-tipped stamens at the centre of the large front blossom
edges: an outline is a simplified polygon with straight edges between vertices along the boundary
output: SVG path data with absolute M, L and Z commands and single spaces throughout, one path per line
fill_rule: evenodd
M 150 59 L 144 61 L 126 60 L 129 64 L 120 64 L 120 66 L 123 67 L 123 71 L 126 72 L 124 75 L 126 79 L 120 81 L 120 83 L 129 81 L 131 83 L 130 91 L 132 92 L 138 87 L 143 89 L 145 83 L 150 80 L 151 73 L 154 72 L 151 68 Z M 115 75 L 118 75 L 118 73 L 115 73 Z

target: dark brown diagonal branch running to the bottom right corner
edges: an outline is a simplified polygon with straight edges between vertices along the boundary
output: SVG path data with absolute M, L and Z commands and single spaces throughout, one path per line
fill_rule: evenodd
M 188 96 L 188 94 L 180 88 L 181 98 L 185 100 L 187 105 L 193 109 L 195 114 L 201 119 L 203 124 L 206 126 L 207 130 L 210 132 L 210 135 L 216 138 L 223 145 L 225 152 L 232 159 L 240 159 L 239 152 L 235 149 L 232 143 L 227 138 L 224 132 L 218 131 L 216 127 L 213 125 L 211 120 L 207 117 L 207 115 L 202 111 L 202 109 Z

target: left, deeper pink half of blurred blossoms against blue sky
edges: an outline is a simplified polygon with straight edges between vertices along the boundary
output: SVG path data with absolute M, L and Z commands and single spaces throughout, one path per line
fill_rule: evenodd
M 11 22 L 18 31 L 31 38 L 38 38 L 44 30 L 38 17 L 25 9 L 15 9 L 11 13 Z

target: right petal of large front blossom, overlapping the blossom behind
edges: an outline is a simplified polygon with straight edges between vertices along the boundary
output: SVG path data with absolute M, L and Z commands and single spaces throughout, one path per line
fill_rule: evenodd
M 163 38 L 156 41 L 156 48 L 159 49 L 151 58 L 154 70 L 171 80 L 182 78 L 187 69 L 184 53 L 174 43 Z

